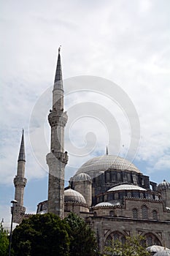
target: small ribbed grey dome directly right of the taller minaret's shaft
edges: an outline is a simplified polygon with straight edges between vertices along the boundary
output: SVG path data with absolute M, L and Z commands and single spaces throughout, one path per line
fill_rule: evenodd
M 73 189 L 64 190 L 64 202 L 75 202 L 86 204 L 85 197 Z

